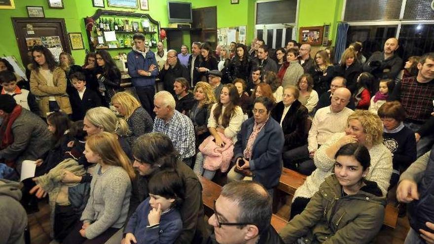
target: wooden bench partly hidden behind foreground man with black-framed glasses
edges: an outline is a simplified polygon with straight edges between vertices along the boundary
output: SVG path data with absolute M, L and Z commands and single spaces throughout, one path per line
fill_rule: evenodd
M 203 204 L 208 210 L 214 211 L 214 200 L 217 200 L 218 196 L 220 196 L 221 186 L 202 176 L 198 177 L 200 183 L 202 184 Z M 282 217 L 279 217 L 276 214 L 273 214 L 271 216 L 271 225 L 277 232 L 279 232 L 283 227 L 285 227 L 286 224 L 288 224 L 288 221 L 286 221 Z

